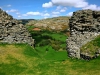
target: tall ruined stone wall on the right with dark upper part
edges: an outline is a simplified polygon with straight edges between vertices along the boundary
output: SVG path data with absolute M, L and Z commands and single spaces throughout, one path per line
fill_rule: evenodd
M 80 48 L 100 35 L 100 11 L 79 10 L 69 20 L 70 37 L 67 39 L 67 51 L 70 57 L 93 58 L 82 53 Z

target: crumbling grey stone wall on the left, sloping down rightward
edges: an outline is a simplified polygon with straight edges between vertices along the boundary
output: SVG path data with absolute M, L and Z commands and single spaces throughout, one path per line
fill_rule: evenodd
M 0 9 L 0 43 L 28 43 L 34 46 L 34 39 L 24 25 Z

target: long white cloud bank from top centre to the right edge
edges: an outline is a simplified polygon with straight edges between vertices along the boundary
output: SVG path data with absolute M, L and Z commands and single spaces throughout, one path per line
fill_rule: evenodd
M 100 10 L 100 6 L 95 4 L 89 4 L 86 0 L 51 0 L 48 3 L 44 3 L 42 7 L 50 8 L 52 6 L 69 6 L 82 9 Z M 58 7 L 59 9 L 60 7 Z M 61 10 L 64 12 L 65 10 Z

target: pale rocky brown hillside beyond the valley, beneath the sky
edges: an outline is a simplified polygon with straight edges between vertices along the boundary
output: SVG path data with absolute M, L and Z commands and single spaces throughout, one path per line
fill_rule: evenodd
M 69 28 L 69 18 L 67 16 L 54 17 L 43 20 L 30 21 L 26 25 L 46 29 L 50 31 L 64 31 Z

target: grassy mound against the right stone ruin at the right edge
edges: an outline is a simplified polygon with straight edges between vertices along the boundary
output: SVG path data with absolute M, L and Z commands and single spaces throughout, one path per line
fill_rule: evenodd
M 94 40 L 88 42 L 87 44 L 83 45 L 81 48 L 81 52 L 89 53 L 89 55 L 94 56 L 95 53 L 100 50 L 100 35 L 97 36 Z

